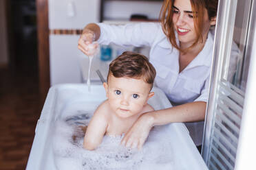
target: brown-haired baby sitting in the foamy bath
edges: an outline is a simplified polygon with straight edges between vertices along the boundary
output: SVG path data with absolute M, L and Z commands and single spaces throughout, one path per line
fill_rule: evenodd
M 128 132 L 142 113 L 153 108 L 147 104 L 156 70 L 149 60 L 138 53 L 124 52 L 109 64 L 107 83 L 103 86 L 107 99 L 94 112 L 87 127 L 83 147 L 93 150 L 103 136 Z

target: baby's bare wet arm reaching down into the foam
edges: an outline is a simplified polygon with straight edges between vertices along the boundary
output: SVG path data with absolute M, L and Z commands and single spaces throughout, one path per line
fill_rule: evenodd
M 83 139 L 83 147 L 85 149 L 94 150 L 103 140 L 103 136 L 107 129 L 107 117 L 105 114 L 104 103 L 105 102 L 100 104 L 89 122 L 85 138 Z

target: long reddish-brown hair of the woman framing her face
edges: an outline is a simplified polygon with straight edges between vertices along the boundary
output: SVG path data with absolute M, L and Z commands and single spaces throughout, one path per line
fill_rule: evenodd
M 193 18 L 195 25 L 196 40 L 187 49 L 180 49 L 178 47 L 176 38 L 175 38 L 175 28 L 173 25 L 173 4 L 175 0 L 164 0 L 164 3 L 160 12 L 160 21 L 162 23 L 162 30 L 164 34 L 169 38 L 171 45 L 178 49 L 179 51 L 186 52 L 188 49 L 195 47 L 197 43 L 202 41 L 202 32 L 203 32 L 203 19 L 204 19 L 204 8 L 206 8 L 209 16 L 209 20 L 217 16 L 217 4 L 218 0 L 190 0 L 191 8 L 193 12 L 197 12 L 196 17 Z

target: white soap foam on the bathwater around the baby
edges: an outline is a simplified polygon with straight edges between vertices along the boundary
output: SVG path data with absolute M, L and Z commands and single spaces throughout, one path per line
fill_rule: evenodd
M 175 169 L 170 141 L 158 127 L 151 130 L 141 150 L 120 145 L 123 136 L 104 136 L 94 151 L 83 149 L 86 126 L 92 113 L 79 112 L 58 119 L 55 123 L 52 146 L 57 169 Z

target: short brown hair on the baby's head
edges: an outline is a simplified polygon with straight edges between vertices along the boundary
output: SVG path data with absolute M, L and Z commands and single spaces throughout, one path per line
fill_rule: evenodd
M 114 77 L 143 78 L 152 87 L 156 77 L 156 69 L 147 57 L 140 53 L 125 51 L 109 64 L 107 80 L 109 80 L 110 74 Z

